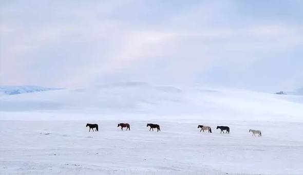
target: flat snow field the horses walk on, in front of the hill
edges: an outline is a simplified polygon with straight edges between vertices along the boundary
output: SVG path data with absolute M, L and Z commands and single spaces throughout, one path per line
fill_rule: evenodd
M 264 121 L 1 121 L 0 174 L 300 174 L 303 124 Z M 117 123 L 128 122 L 130 131 Z M 149 132 L 158 123 L 161 132 Z M 198 124 L 212 127 L 200 133 Z M 220 134 L 217 125 L 230 126 Z M 248 130 L 260 129 L 262 137 Z

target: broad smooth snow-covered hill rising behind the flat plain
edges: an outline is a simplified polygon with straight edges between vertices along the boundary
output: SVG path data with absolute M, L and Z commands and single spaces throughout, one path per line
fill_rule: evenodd
M 65 116 L 65 119 L 102 119 L 122 114 L 123 118 L 149 115 L 186 119 L 203 116 L 230 120 L 302 120 L 303 97 L 201 85 L 175 87 L 142 82 L 0 97 L 0 112 L 41 111 L 59 113 L 59 116 L 63 113 L 75 114 Z M 87 113 L 91 115 L 85 115 Z M 11 114 L 9 116 L 12 118 Z M 35 118 L 34 115 L 31 117 Z M 43 115 L 39 119 L 48 117 Z

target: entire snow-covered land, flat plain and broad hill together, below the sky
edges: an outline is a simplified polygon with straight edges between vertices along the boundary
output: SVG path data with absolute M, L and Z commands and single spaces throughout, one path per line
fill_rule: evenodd
M 1 96 L 0 119 L 0 174 L 303 172 L 302 96 L 128 82 Z

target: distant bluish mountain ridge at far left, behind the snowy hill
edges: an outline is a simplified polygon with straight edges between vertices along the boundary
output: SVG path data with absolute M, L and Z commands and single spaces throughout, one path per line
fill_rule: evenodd
M 23 93 L 34 93 L 41 91 L 54 91 L 63 90 L 62 88 L 44 88 L 35 85 L 24 85 L 24 86 L 0 86 L 0 95 L 16 95 Z

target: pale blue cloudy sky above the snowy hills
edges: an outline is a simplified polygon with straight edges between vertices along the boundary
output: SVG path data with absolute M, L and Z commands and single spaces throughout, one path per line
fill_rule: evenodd
M 303 87 L 303 1 L 0 1 L 0 85 Z

